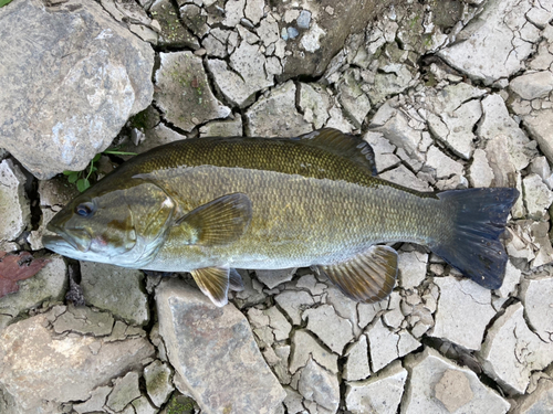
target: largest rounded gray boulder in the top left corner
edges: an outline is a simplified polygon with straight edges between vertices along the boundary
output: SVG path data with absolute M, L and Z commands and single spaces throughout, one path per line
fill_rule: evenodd
M 49 4 L 0 9 L 0 147 L 41 179 L 83 170 L 154 92 L 148 43 L 96 2 Z

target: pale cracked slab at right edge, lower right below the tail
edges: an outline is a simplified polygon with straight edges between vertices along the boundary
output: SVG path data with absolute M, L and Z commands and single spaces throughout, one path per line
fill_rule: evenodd
M 520 302 L 509 306 L 488 329 L 478 353 L 483 371 L 509 394 L 523 394 L 530 374 L 553 361 L 553 343 L 528 328 L 523 311 Z

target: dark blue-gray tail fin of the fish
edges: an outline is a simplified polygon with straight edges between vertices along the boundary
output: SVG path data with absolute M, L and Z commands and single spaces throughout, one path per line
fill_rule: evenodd
M 452 215 L 450 231 L 429 247 L 465 276 L 488 289 L 503 283 L 505 250 L 499 236 L 519 198 L 510 188 L 445 191 L 438 198 Z

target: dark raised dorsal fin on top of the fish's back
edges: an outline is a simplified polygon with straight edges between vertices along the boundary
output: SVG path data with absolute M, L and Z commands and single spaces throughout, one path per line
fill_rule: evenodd
M 373 147 L 358 137 L 343 134 L 334 128 L 323 128 L 298 138 L 357 162 L 363 168 L 368 169 L 372 176 L 378 173 Z

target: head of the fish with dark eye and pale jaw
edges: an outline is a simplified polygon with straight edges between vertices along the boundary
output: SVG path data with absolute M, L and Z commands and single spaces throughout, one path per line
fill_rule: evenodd
M 143 180 L 122 188 L 96 185 L 76 197 L 48 224 L 46 248 L 80 261 L 139 268 L 165 242 L 176 204 Z M 100 184 L 100 183 L 98 183 Z

